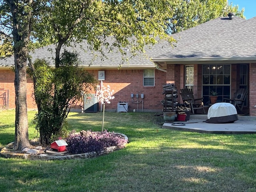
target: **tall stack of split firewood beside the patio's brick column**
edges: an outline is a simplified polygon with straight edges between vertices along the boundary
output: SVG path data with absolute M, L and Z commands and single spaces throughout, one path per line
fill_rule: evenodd
M 165 98 L 161 101 L 163 108 L 163 112 L 175 112 L 177 106 L 177 93 L 178 90 L 172 83 L 163 85 L 162 94 L 165 95 Z

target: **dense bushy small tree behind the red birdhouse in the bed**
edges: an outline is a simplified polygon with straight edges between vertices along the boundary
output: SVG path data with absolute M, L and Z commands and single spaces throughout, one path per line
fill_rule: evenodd
M 80 101 L 82 94 L 94 90 L 96 78 L 79 67 L 76 53 L 64 51 L 60 67 L 52 68 L 46 60 L 36 60 L 34 71 L 34 97 L 38 113 L 34 119 L 40 132 L 40 143 L 49 144 L 51 137 L 62 131 L 71 106 Z

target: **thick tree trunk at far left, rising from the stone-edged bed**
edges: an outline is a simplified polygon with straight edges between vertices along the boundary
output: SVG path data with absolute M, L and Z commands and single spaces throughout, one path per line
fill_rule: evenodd
M 22 150 L 30 146 L 28 140 L 28 114 L 27 114 L 27 79 L 26 65 L 28 56 L 28 43 L 30 41 L 32 26 L 33 0 L 25 2 L 6 0 L 12 13 L 12 35 L 14 41 L 15 65 L 15 142 L 14 150 Z

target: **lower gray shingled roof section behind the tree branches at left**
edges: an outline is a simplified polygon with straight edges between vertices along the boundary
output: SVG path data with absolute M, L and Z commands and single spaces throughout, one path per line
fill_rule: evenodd
M 112 37 L 107 38 L 108 42 L 112 42 Z M 149 48 L 148 46 L 145 47 L 146 53 L 137 53 L 135 57 L 130 54 L 130 51 L 127 50 L 127 55 L 124 56 L 124 60 L 122 60 L 122 54 L 118 52 L 118 50 L 114 50 L 113 52 L 109 52 L 108 50 L 104 51 L 106 57 L 102 57 L 100 52 L 91 52 L 88 50 L 88 43 L 86 41 L 81 43 L 76 43 L 73 46 L 66 47 L 63 46 L 61 52 L 64 49 L 70 51 L 76 51 L 78 53 L 78 57 L 81 60 L 80 66 L 83 66 L 88 69 L 110 69 L 110 68 L 118 68 L 122 66 L 122 68 L 129 68 L 129 69 L 145 69 L 145 68 L 156 68 L 156 65 L 150 60 L 152 56 L 158 56 L 161 54 L 166 47 L 170 49 L 170 45 L 168 42 L 162 41 L 161 43 L 157 44 L 156 46 L 152 46 Z M 98 55 L 95 57 L 95 54 Z M 44 58 L 49 61 L 50 65 L 54 66 L 54 58 L 55 58 L 55 46 L 49 45 L 43 48 L 39 48 L 34 50 L 34 52 L 30 53 L 32 57 L 32 62 L 37 58 Z M 128 58 L 128 61 L 126 61 Z M 14 56 L 10 58 L 5 58 L 0 60 L 0 67 L 1 66 L 12 66 L 14 65 Z

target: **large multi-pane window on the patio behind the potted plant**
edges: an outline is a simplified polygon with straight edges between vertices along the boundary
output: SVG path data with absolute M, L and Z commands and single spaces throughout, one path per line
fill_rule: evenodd
M 204 64 L 202 69 L 202 90 L 204 104 L 210 104 L 210 93 L 218 93 L 217 102 L 230 98 L 230 64 Z

